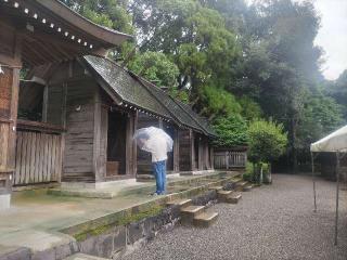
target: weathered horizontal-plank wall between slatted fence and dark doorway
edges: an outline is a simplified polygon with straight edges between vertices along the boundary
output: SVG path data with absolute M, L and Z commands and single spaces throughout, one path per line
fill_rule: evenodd
M 69 80 L 66 90 L 66 133 L 63 181 L 95 180 L 93 168 L 94 93 L 88 78 Z

